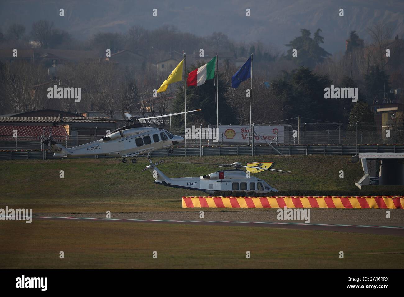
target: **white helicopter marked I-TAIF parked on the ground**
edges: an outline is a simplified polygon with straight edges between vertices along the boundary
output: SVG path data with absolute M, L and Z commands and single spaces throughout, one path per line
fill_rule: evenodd
M 233 167 L 231 170 L 223 170 L 201 177 L 179 177 L 169 178 L 157 168 L 158 164 L 163 163 L 160 161 L 153 164 L 150 158 L 150 165 L 146 166 L 142 171 L 149 170 L 155 178 L 154 183 L 158 185 L 165 185 L 167 187 L 177 187 L 182 189 L 191 189 L 214 194 L 215 192 L 255 192 L 255 193 L 268 193 L 279 192 L 274 187 L 257 177 L 253 177 L 250 173 L 258 173 L 262 171 L 275 171 L 281 173 L 290 173 L 291 171 L 284 171 L 278 169 L 270 169 L 274 162 L 254 162 L 242 165 L 238 162 L 233 164 L 208 164 L 208 163 L 187 163 L 187 162 L 168 162 L 168 163 L 183 163 L 183 164 L 204 164 L 204 165 L 217 165 L 215 167 Z M 255 166 L 254 166 L 255 165 Z M 240 168 L 246 168 L 244 172 Z

